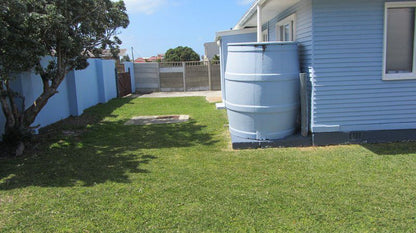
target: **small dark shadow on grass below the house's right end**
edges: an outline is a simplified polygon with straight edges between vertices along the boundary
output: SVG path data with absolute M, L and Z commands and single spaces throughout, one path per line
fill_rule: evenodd
M 361 146 L 378 155 L 416 154 L 416 142 L 362 144 Z

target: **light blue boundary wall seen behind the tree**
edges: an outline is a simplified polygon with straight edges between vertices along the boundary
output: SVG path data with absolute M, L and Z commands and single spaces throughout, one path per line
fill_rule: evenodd
M 46 64 L 47 59 L 43 60 Z M 82 71 L 71 71 L 41 110 L 32 126 L 45 127 L 69 117 L 78 116 L 91 106 L 117 96 L 115 63 L 112 60 L 89 59 L 90 65 Z M 17 75 L 11 86 L 25 96 L 25 106 L 30 106 L 42 93 L 40 77 L 31 72 Z M 104 96 L 104 99 L 100 98 Z M 4 133 L 5 117 L 0 111 L 0 135 Z M 1 140 L 1 137 L 0 137 Z

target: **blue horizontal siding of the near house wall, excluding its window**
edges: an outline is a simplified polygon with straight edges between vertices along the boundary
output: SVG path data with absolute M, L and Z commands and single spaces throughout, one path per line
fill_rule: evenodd
M 313 0 L 312 132 L 416 129 L 416 80 L 382 80 L 384 3 Z

